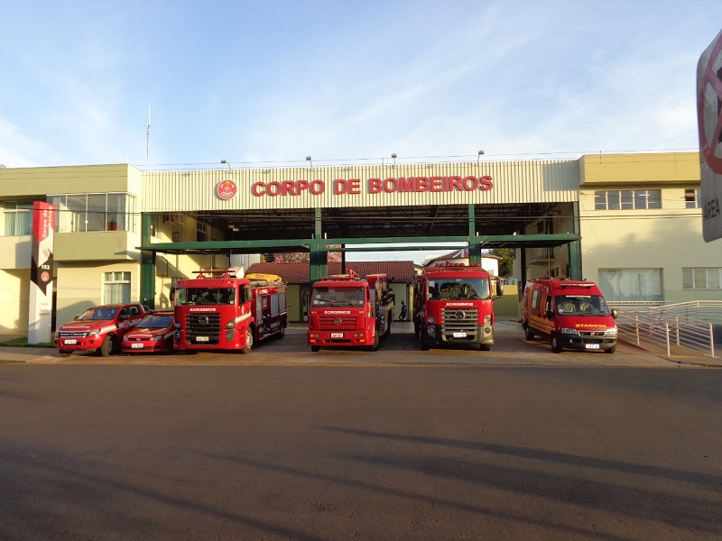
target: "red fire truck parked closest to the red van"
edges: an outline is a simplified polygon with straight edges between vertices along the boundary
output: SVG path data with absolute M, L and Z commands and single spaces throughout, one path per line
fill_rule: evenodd
M 494 344 L 494 298 L 502 280 L 478 263 L 440 263 L 414 282 L 413 328 L 423 351 L 433 345 Z

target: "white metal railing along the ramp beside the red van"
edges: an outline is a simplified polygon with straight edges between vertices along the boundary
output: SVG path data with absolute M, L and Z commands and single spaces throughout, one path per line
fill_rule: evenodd
M 669 358 L 715 357 L 715 325 L 722 302 L 693 301 L 664 306 L 616 305 L 619 339 Z

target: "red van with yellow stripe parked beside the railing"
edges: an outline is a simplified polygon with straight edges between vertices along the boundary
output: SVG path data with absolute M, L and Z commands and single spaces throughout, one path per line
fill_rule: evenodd
M 522 326 L 527 340 L 549 339 L 551 351 L 615 353 L 616 310 L 586 280 L 529 280 L 523 293 Z

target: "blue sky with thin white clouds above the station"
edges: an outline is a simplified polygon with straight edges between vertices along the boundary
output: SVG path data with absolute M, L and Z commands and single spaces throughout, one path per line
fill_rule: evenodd
M 697 60 L 720 29 L 719 0 L 14 2 L 0 163 L 694 150 Z

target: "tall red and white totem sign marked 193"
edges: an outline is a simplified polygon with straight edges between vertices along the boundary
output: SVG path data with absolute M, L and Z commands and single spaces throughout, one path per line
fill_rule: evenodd
M 28 344 L 52 342 L 52 250 L 55 206 L 32 204 L 32 261 L 28 309 Z

